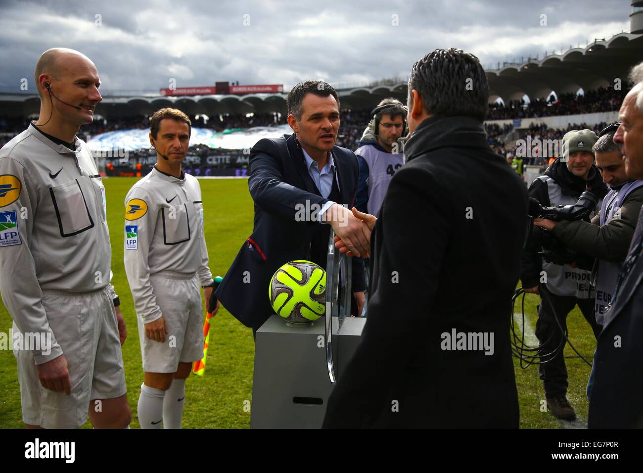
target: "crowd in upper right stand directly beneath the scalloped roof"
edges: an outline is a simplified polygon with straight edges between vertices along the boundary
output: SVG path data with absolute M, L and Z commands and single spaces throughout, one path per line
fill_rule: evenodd
M 489 104 L 487 120 L 504 120 L 511 118 L 536 118 L 542 116 L 575 115 L 618 110 L 628 89 L 615 90 L 612 87 L 601 87 L 588 90 L 584 95 L 575 93 L 560 94 L 558 99 L 552 95 L 547 98 L 534 98 L 531 102 L 511 100 L 505 104 Z

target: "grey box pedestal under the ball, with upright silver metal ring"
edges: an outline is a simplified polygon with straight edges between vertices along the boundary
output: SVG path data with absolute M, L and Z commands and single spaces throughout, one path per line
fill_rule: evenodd
M 336 252 L 333 237 L 331 231 L 326 316 L 296 325 L 273 315 L 257 330 L 253 429 L 320 428 L 333 385 L 359 345 L 366 319 L 347 317 L 352 296 L 350 258 Z

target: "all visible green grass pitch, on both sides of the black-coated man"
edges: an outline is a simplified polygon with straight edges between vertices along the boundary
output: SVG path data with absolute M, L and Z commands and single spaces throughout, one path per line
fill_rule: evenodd
M 127 398 L 132 409 L 132 428 L 138 428 L 136 404 L 143 382 L 141 353 L 136 329 L 136 313 L 123 269 L 123 205 L 127 190 L 136 178 L 105 179 L 107 192 L 107 221 L 111 234 L 112 269 L 114 286 L 120 296 L 121 310 L 127 323 L 127 341 L 123 346 Z M 205 209 L 204 232 L 213 275 L 224 275 L 244 240 L 252 230 L 253 203 L 246 180 L 200 180 Z M 538 297 L 528 295 L 525 312 L 532 329 L 536 322 Z M 516 304 L 516 311 L 520 307 Z M 0 304 L 0 333 L 8 333 L 11 318 Z M 580 311 L 575 309 L 568 317 L 570 339 L 586 358 L 591 359 L 595 340 Z M 575 355 L 569 347 L 565 355 Z M 244 411 L 244 401 L 251 401 L 254 344 L 252 331 L 224 308 L 212 319 L 208 362 L 203 377 L 190 376 L 186 384 L 186 403 L 183 416 L 185 428 L 249 427 L 250 414 Z M 540 411 L 544 400 L 538 367 L 520 369 L 515 361 L 516 381 L 520 400 L 520 425 L 523 428 L 560 428 L 572 424 L 556 420 Z M 579 358 L 566 358 L 569 375 L 568 399 L 581 420 L 587 418 L 587 400 L 584 394 L 590 367 Z M 12 351 L 0 350 L 0 429 L 19 429 L 21 422 L 20 391 L 16 362 Z M 84 427 L 90 427 L 87 423 Z

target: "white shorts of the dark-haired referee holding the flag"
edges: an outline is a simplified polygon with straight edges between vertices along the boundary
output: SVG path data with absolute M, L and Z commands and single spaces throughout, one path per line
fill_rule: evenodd
M 165 342 L 145 337 L 145 324 L 138 318 L 143 371 L 176 373 L 181 363 L 203 358 L 203 304 L 201 285 L 196 274 L 161 271 L 150 275 L 152 292 L 161 309 Z

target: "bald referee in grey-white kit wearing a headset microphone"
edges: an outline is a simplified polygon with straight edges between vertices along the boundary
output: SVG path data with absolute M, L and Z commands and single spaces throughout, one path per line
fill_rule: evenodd
M 40 117 L 0 150 L 0 292 L 14 333 L 27 427 L 128 427 L 125 323 L 109 284 L 104 187 L 75 134 L 102 100 L 96 66 L 45 51 L 34 74 Z

